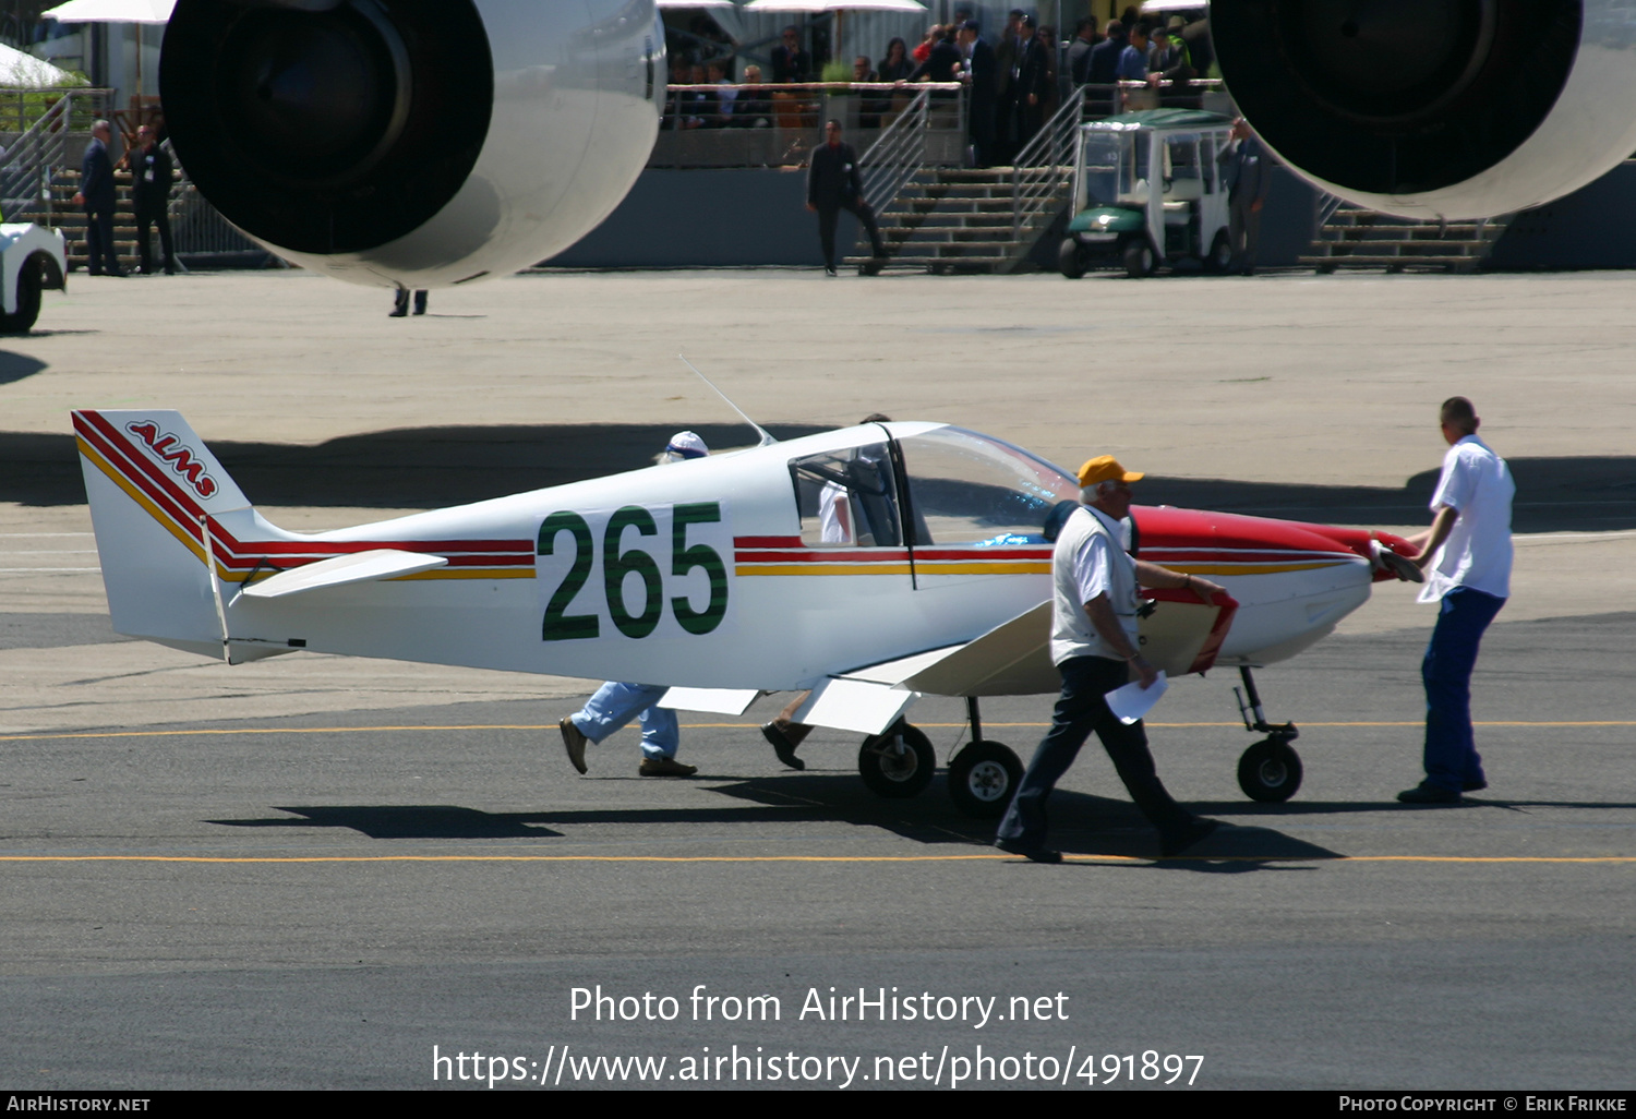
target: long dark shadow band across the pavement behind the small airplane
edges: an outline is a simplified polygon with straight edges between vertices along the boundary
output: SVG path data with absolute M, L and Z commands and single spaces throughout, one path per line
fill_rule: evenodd
M 0 384 L 38 371 L 13 375 L 8 360 L 31 358 L 0 352 Z M 694 424 L 694 430 L 715 448 L 751 442 L 743 424 Z M 769 430 L 797 438 L 829 429 L 771 424 Z M 262 506 L 440 509 L 648 466 L 674 432 L 674 425 L 659 424 L 419 427 L 345 435 L 316 447 L 211 440 L 211 450 Z M 1427 455 L 1436 461 L 1436 448 Z M 1636 528 L 1636 456 L 1513 458 L 1510 466 L 1517 532 Z M 1425 470 L 1397 489 L 1148 474 L 1139 499 L 1319 524 L 1404 525 L 1428 519 L 1436 474 L 1436 468 Z M 0 432 L 0 501 L 83 504 L 74 437 Z

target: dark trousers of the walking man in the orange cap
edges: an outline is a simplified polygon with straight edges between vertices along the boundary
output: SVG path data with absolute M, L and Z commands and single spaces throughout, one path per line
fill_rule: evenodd
M 1124 661 L 1104 656 L 1076 656 L 1057 666 L 1062 674 L 1062 695 L 1050 730 L 1034 751 L 1034 759 L 1022 774 L 1016 797 L 1000 821 L 1000 838 L 1037 847 L 1045 843 L 1045 798 L 1091 731 L 1112 759 L 1119 780 L 1130 800 L 1158 828 L 1171 834 L 1193 821 L 1193 813 L 1171 800 L 1153 767 L 1153 754 L 1147 748 L 1147 731 L 1142 721 L 1121 723 L 1108 708 L 1104 699 L 1116 687 L 1124 687 L 1130 669 Z

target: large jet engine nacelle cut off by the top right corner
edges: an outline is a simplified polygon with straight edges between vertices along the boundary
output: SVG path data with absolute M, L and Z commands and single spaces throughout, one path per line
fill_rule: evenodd
M 1212 0 L 1211 34 L 1268 147 L 1371 209 L 1492 218 L 1636 151 L 1629 0 Z

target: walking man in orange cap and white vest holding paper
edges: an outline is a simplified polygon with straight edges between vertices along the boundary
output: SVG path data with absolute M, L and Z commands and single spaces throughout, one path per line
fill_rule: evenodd
M 1170 571 L 1126 551 L 1121 522 L 1130 512 L 1130 483 L 1140 478 L 1112 455 L 1088 460 L 1080 466 L 1083 504 L 1057 537 L 1050 561 L 1055 587 L 1050 659 L 1062 672 L 1062 697 L 995 839 L 1001 851 L 1034 862 L 1062 862 L 1062 852 L 1045 846 L 1045 798 L 1093 730 L 1130 800 L 1158 829 L 1165 856 L 1181 854 L 1217 826 L 1171 800 L 1153 769 L 1142 721 L 1121 723 L 1104 699 L 1132 676 L 1142 687 L 1158 679 L 1137 641 L 1139 587 L 1188 587 L 1206 602 L 1224 594 L 1209 579 Z

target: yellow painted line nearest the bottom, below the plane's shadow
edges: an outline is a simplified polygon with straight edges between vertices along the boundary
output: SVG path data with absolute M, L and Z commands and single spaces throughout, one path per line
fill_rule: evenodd
M 299 823 L 299 821 L 291 821 Z M 1005 862 L 1006 852 L 941 856 L 0 856 L 0 862 Z M 1631 864 L 1636 856 L 1145 856 L 1086 854 L 1065 862 L 1467 862 Z

